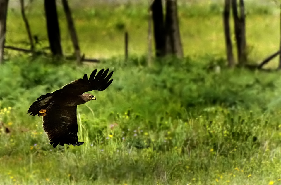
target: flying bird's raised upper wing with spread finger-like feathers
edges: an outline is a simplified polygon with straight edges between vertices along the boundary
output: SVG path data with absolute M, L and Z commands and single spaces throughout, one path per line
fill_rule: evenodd
M 59 90 L 52 92 L 52 95 L 81 95 L 84 92 L 91 90 L 103 91 L 105 90 L 113 81 L 113 79 L 109 80 L 113 74 L 113 71 L 108 74 L 109 69 L 102 69 L 97 73 L 97 69 L 95 69 L 89 79 L 87 74 L 84 74 L 83 79 L 75 80 Z M 96 75 L 97 73 L 97 75 Z M 107 75 L 108 74 L 108 75 Z

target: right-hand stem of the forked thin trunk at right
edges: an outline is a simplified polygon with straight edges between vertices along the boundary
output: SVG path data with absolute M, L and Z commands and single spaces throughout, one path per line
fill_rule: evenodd
M 244 65 L 247 63 L 247 50 L 246 50 L 246 23 L 245 23 L 245 6 L 244 0 L 239 1 L 240 18 L 239 23 L 241 27 L 241 63 Z

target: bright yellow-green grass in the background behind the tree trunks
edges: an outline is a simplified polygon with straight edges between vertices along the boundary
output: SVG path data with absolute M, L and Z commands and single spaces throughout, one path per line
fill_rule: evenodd
M 89 5 L 90 4 L 90 5 Z M 70 4 L 73 12 L 80 48 L 86 57 L 111 58 L 124 55 L 124 33 L 129 34 L 129 54 L 145 55 L 148 50 L 148 5 L 141 3 L 84 3 Z M 249 60 L 260 62 L 279 48 L 279 8 L 274 3 L 246 2 L 246 37 Z M 28 6 L 26 14 L 33 35 L 40 44 L 48 46 L 44 8 L 40 1 Z M 179 24 L 184 55 L 225 56 L 225 41 L 222 27 L 220 2 L 179 2 Z M 64 53 L 72 53 L 71 39 L 67 31 L 66 18 L 58 3 L 61 39 Z M 18 8 L 9 9 L 7 22 L 8 45 L 28 47 L 28 39 Z M 233 27 L 233 22 L 232 25 Z M 234 32 L 232 32 L 234 44 Z M 234 52 L 236 47 L 234 46 Z M 14 55 L 15 52 L 8 52 Z M 276 67 L 277 59 L 268 67 Z

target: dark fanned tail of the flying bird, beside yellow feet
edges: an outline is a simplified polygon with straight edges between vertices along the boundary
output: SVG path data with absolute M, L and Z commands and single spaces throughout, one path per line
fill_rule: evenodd
M 42 116 L 42 114 L 44 114 L 44 111 L 42 111 L 42 110 L 47 109 L 51 98 L 52 98 L 51 93 L 41 95 L 39 98 L 36 99 L 35 102 L 33 102 L 32 105 L 30 105 L 30 107 L 27 111 L 27 114 L 32 115 L 32 116 L 36 116 L 38 114 L 38 116 Z

